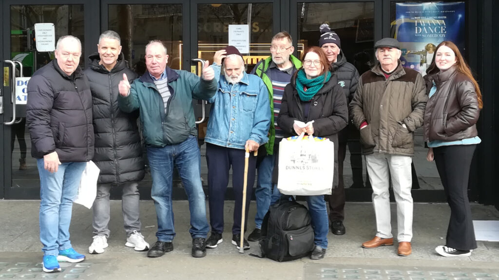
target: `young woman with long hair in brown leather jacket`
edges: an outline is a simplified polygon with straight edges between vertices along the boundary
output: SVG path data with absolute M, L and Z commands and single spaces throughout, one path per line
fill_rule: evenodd
M 429 100 L 424 118 L 427 160 L 437 165 L 451 218 L 446 244 L 435 251 L 444 257 L 470 256 L 477 248 L 468 180 L 478 137 L 476 123 L 483 107 L 482 93 L 470 67 L 451 41 L 437 46 L 425 76 Z

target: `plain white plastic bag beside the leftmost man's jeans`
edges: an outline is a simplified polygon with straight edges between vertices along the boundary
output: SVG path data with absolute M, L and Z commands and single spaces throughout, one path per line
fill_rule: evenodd
M 74 203 L 81 204 L 88 209 L 92 207 L 97 196 L 97 179 L 99 178 L 99 173 L 99 167 L 93 161 L 88 161 L 85 170 L 81 174 L 78 195 L 73 200 Z

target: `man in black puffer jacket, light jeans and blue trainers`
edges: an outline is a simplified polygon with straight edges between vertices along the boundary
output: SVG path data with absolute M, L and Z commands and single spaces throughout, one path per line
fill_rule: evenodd
M 62 36 L 54 53 L 55 59 L 31 77 L 26 105 L 31 155 L 40 175 L 44 272 L 61 271 L 59 261 L 85 260 L 71 246 L 69 224 L 81 174 L 94 155 L 92 95 L 78 67 L 81 42 Z

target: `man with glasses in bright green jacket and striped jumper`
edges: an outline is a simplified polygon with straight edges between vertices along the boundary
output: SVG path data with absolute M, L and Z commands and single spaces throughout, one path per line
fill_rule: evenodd
M 272 172 L 274 168 L 275 152 L 279 149 L 279 141 L 283 133 L 277 126 L 277 115 L 279 115 L 280 104 L 284 87 L 291 81 L 291 76 L 301 67 L 301 61 L 292 55 L 294 51 L 291 35 L 286 31 L 279 32 L 272 37 L 270 54 L 265 60 L 258 62 L 251 74 L 255 74 L 263 80 L 268 89 L 270 101 L 270 129 L 268 131 L 268 142 L 265 149 L 266 155 L 258 160 L 258 178 L 256 181 L 256 215 L 254 218 L 255 229 L 248 236 L 249 241 L 260 239 L 261 223 L 268 211 L 271 201 L 279 197 L 277 188 L 272 184 Z

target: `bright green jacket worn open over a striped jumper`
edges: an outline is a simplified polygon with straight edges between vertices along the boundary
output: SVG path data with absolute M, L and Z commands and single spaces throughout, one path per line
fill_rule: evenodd
M 301 68 L 301 61 L 294 57 L 292 54 L 289 56 L 289 59 L 293 63 L 294 68 Z M 266 72 L 268 66 L 270 65 L 270 61 L 272 61 L 272 57 L 269 56 L 262 62 L 258 63 L 255 68 L 254 74 L 260 77 L 263 80 L 263 83 L 268 89 L 268 100 L 270 102 L 270 128 L 268 129 L 268 142 L 265 143 L 265 149 L 267 150 L 267 154 L 273 154 L 274 151 L 274 141 L 275 141 L 275 125 L 274 125 L 274 97 L 272 90 L 272 81 L 267 76 Z

